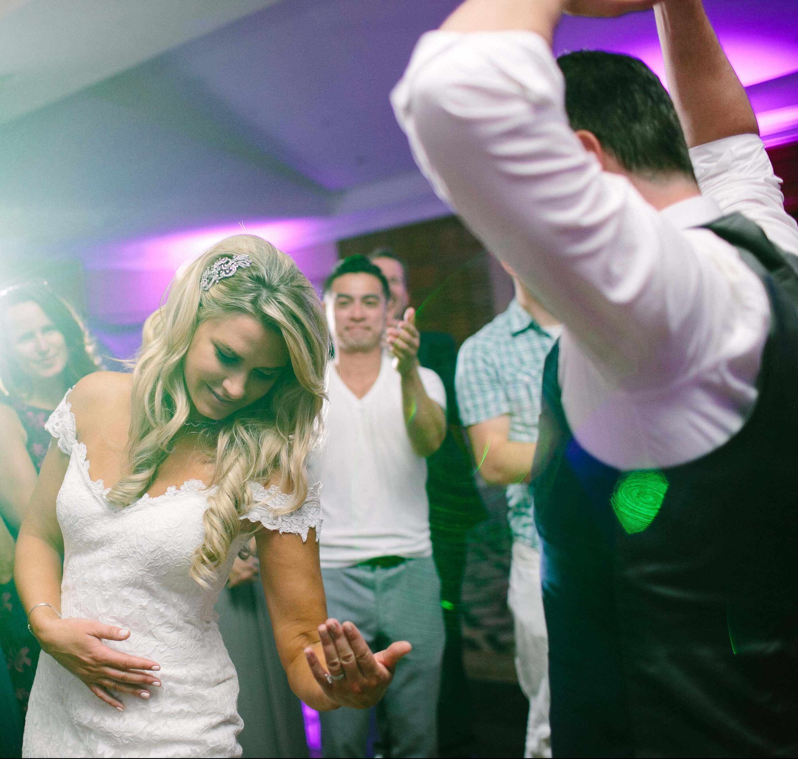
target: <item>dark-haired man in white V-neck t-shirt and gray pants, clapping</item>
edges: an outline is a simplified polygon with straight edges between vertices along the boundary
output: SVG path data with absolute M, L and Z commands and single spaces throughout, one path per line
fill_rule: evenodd
M 324 290 L 335 359 L 326 440 L 311 457 L 310 476 L 322 483 L 327 610 L 351 619 L 369 643 L 413 644 L 381 701 L 383 740 L 393 756 L 431 757 L 444 626 L 425 457 L 446 434 L 444 384 L 418 365 L 413 309 L 387 327 L 388 283 L 365 256 L 340 261 Z M 389 352 L 381 347 L 384 335 Z M 367 711 L 337 709 L 321 721 L 325 757 L 365 757 Z

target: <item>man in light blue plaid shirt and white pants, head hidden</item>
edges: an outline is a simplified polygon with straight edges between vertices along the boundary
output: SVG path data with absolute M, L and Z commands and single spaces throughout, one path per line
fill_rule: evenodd
M 529 699 L 524 756 L 551 757 L 548 642 L 527 483 L 538 439 L 543 362 L 562 328 L 508 273 L 516 297 L 464 342 L 455 387 L 480 475 L 488 484 L 507 486 L 513 538 L 508 604 L 516 622 L 516 670 Z

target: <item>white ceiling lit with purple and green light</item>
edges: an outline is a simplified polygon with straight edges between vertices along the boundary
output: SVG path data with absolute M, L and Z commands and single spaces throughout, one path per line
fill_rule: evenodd
M 137 241 L 243 221 L 297 248 L 446 213 L 388 93 L 456 4 L 0 0 L 0 256 L 168 268 L 184 248 Z M 795 0 L 706 4 L 746 83 L 798 70 Z M 650 14 L 569 18 L 558 46 L 658 62 Z

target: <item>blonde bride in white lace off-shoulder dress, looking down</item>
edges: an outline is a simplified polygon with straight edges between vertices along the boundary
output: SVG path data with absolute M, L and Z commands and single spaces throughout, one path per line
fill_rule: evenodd
M 65 395 L 15 566 L 43 651 L 25 756 L 239 756 L 213 606 L 253 534 L 294 693 L 318 710 L 379 700 L 409 643 L 372 654 L 326 619 L 306 482 L 328 345 L 296 264 L 237 235 L 176 276 L 132 375 Z

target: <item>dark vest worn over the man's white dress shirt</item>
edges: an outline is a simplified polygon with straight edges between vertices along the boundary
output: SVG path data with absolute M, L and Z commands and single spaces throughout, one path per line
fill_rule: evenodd
M 798 756 L 798 274 L 760 228 L 708 225 L 764 281 L 759 398 L 733 439 L 624 473 L 576 442 L 558 347 L 533 465 L 557 757 Z

